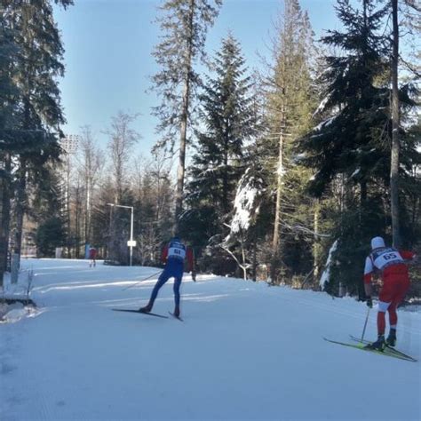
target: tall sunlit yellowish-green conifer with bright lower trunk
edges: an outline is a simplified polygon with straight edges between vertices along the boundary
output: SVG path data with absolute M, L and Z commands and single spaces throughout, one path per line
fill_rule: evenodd
M 314 52 L 313 30 L 307 13 L 303 12 L 298 0 L 285 1 L 274 37 L 273 64 L 265 79 L 269 132 L 260 140 L 266 146 L 266 165 L 272 169 L 268 173 L 274 174 L 266 181 L 275 196 L 272 282 L 279 278 L 280 269 L 284 272 L 286 266 L 295 266 L 302 270 L 306 260 L 310 260 L 306 258 L 308 248 L 303 253 L 298 245 L 298 242 L 306 243 L 303 233 L 305 227 L 309 230 L 312 222 L 308 218 L 311 201 L 304 191 L 306 171 L 299 164 L 295 144 L 309 129 L 314 110 Z M 291 241 L 294 238 L 299 240 Z

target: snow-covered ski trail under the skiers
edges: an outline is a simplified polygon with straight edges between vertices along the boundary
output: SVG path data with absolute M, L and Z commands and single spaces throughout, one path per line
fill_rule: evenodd
M 0 324 L 2 421 L 421 419 L 420 362 L 322 339 L 361 335 L 367 307 L 352 298 L 187 275 L 179 322 L 110 310 L 145 304 L 156 276 L 124 289 L 155 268 L 23 265 L 40 308 Z M 172 308 L 169 283 L 154 311 Z M 399 317 L 398 347 L 420 359 L 421 314 Z

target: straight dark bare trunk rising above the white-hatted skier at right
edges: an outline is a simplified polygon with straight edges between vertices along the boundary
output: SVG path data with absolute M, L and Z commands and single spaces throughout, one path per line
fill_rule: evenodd
M 392 153 L 390 165 L 390 194 L 392 210 L 393 247 L 401 246 L 400 218 L 399 218 L 399 88 L 398 88 L 398 60 L 399 60 L 399 26 L 398 0 L 392 0 L 393 16 L 393 54 L 392 54 Z

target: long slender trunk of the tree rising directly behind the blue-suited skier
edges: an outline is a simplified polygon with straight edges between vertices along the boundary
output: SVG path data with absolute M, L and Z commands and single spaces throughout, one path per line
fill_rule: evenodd
M 195 14 L 195 0 L 190 0 L 189 10 L 189 30 L 190 36 L 187 44 L 186 52 L 186 74 L 183 89 L 183 109 L 181 110 L 180 136 L 179 136 L 179 170 L 177 171 L 177 190 L 175 195 L 175 224 L 174 234 L 179 231 L 179 218 L 183 209 L 183 192 L 184 192 L 184 173 L 186 169 L 186 146 L 187 146 L 187 123 L 188 108 L 190 105 L 190 83 L 192 71 L 192 54 L 193 54 L 193 18 Z

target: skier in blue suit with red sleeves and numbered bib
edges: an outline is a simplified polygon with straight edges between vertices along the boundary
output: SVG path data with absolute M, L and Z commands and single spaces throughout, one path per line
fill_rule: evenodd
M 154 290 L 152 290 L 151 297 L 147 306 L 139 308 L 139 312 L 149 313 L 152 311 L 158 291 L 171 277 L 174 278 L 174 315 L 179 317 L 179 287 L 184 273 L 184 264 L 187 260 L 187 272 L 192 272 L 192 279 L 195 281 L 195 258 L 193 250 L 186 247 L 179 239 L 179 237 L 171 238 L 171 242 L 163 249 L 162 255 L 163 273 L 160 274 L 158 282 L 156 282 Z

